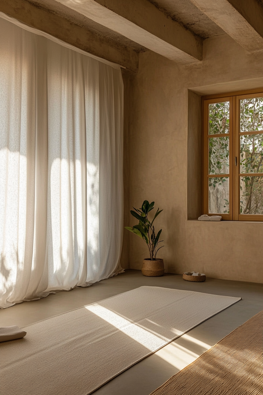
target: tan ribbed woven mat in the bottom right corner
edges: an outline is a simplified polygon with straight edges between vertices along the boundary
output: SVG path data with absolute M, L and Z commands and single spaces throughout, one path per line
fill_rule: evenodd
M 263 311 L 151 395 L 262 395 Z

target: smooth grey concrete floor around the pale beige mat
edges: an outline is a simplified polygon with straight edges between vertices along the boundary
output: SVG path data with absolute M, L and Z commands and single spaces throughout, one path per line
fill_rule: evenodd
M 236 296 L 242 297 L 242 300 L 140 361 L 95 391 L 95 395 L 149 395 L 170 376 L 263 310 L 263 284 L 215 278 L 196 283 L 184 281 L 181 275 L 165 273 L 162 277 L 145 277 L 141 271 L 127 269 L 125 273 L 93 284 L 89 288 L 58 292 L 38 301 L 24 302 L 0 310 L 0 326 L 22 327 L 142 285 Z

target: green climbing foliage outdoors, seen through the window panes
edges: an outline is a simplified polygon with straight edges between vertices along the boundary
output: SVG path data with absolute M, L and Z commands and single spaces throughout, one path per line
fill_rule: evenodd
M 240 136 L 240 173 L 262 173 L 240 177 L 240 213 L 263 214 L 263 98 L 240 100 L 240 131 L 259 131 Z M 229 173 L 229 137 L 212 137 L 225 133 L 229 133 L 229 102 L 209 104 L 209 174 Z M 209 178 L 209 190 L 224 190 L 227 180 Z M 224 200 L 223 213 L 229 213 L 229 200 Z

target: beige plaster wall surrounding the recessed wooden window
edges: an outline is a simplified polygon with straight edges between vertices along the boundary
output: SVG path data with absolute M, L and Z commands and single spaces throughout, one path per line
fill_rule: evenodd
M 188 117 L 188 88 L 203 93 L 222 87 L 239 90 L 247 88 L 250 79 L 253 88 L 263 86 L 263 52 L 248 54 L 224 35 L 205 40 L 203 55 L 201 64 L 178 66 L 153 52 L 142 53 L 138 75 L 127 77 L 126 207 L 128 203 L 140 207 L 148 199 L 156 202 L 156 208 L 164 209 L 156 228 L 163 229 L 165 247 L 160 257 L 166 272 L 195 270 L 214 278 L 263 282 L 262 222 L 187 220 L 192 166 L 188 166 L 187 156 L 195 155 L 198 160 L 196 150 L 200 149 L 198 141 L 188 143 L 188 121 L 194 125 L 194 114 L 190 120 Z M 191 199 L 198 207 L 199 203 Z M 135 223 L 130 216 L 125 225 Z M 139 237 L 124 232 L 130 267 L 140 269 L 148 255 L 147 246 Z

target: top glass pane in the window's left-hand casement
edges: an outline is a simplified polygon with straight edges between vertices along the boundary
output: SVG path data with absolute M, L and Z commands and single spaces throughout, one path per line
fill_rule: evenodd
M 229 133 L 229 102 L 209 104 L 208 134 Z

